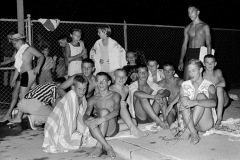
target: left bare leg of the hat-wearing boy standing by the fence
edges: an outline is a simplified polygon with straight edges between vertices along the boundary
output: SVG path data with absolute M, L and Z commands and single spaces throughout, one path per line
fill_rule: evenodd
M 6 115 L 0 119 L 0 122 L 4 122 L 6 120 L 11 119 L 12 110 L 16 106 L 17 101 L 18 101 L 19 89 L 20 89 L 20 81 L 16 81 L 13 92 L 12 92 L 12 101 L 11 101 L 10 107 L 9 107 Z

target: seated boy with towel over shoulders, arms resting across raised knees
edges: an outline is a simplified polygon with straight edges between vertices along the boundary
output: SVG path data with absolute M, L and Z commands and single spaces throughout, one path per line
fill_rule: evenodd
M 159 118 L 160 110 L 166 105 L 166 97 L 170 91 L 162 89 L 156 83 L 147 81 L 147 66 L 138 67 L 138 81 L 132 83 L 129 88 L 138 124 L 155 122 L 157 126 L 168 128 L 167 122 Z M 151 104 L 150 100 L 154 100 Z M 131 113 L 132 114 L 132 113 Z

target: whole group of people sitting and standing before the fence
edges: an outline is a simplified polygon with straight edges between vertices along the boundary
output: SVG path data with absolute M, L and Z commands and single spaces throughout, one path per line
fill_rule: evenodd
M 155 59 L 138 64 L 136 52 L 126 52 L 110 38 L 109 26 L 99 26 L 100 39 L 90 50 L 89 57 L 80 40 L 81 30 L 72 30 L 70 43 L 66 36 L 59 37 L 67 77 L 34 87 L 36 74 L 42 65 L 45 66 L 47 58 L 45 56 L 44 63 L 44 55 L 26 44 L 24 36 L 12 35 L 11 42 L 17 49 L 12 86 L 14 90 L 19 90 L 20 86 L 20 101 L 17 116 L 6 119 L 19 123 L 26 114 L 32 129 L 44 123 L 46 152 L 77 149 L 93 137 L 97 142 L 90 156 L 98 157 L 105 150 L 115 158 L 106 137 L 127 129 L 135 137 L 147 136 L 138 128 L 139 124 L 147 123 L 170 129 L 176 135 L 179 133 L 174 124 L 179 118 L 184 122 L 180 130 L 182 136 L 191 139 L 193 144 L 198 143 L 198 132 L 219 126 L 223 108 L 229 103 L 224 90 L 225 79 L 221 70 L 215 68 L 216 58 L 211 54 L 209 26 L 199 19 L 199 13 L 199 8 L 189 6 L 192 23 L 184 29 L 178 66 L 180 70 L 184 68 L 183 79 L 175 73 L 171 62 L 164 63 L 161 69 Z M 201 62 L 200 48 L 205 44 L 208 54 Z M 31 65 L 33 56 L 38 58 L 35 68 Z M 53 65 L 52 61 L 46 64 L 46 68 L 51 68 L 48 65 Z M 17 101 L 16 92 L 13 93 L 14 102 L 9 112 Z

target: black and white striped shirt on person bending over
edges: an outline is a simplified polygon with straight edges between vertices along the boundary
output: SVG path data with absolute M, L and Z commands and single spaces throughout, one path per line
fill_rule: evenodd
M 39 84 L 31 89 L 24 98 L 26 99 L 37 99 L 45 105 L 53 104 L 56 100 L 56 84 L 45 83 Z

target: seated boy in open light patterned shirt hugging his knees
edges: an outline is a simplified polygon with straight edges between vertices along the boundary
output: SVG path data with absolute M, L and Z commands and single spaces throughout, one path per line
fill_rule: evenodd
M 187 67 L 190 80 L 181 85 L 180 111 L 189 129 L 185 131 L 185 135 L 188 139 L 191 137 L 191 143 L 196 144 L 200 140 L 198 131 L 211 129 L 217 119 L 217 96 L 214 84 L 202 77 L 203 67 L 200 60 L 190 60 Z

